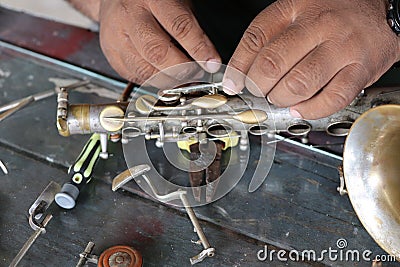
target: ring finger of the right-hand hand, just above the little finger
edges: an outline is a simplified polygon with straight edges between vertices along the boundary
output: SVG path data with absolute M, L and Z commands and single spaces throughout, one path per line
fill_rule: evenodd
M 321 44 L 277 83 L 268 99 L 275 106 L 289 107 L 311 98 L 348 64 L 346 53 L 337 42 Z

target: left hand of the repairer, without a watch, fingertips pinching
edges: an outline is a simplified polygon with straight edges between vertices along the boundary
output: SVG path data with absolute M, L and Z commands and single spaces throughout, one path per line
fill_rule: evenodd
M 111 66 L 139 84 L 160 70 L 192 59 L 205 62 L 202 67 L 211 73 L 218 71 L 221 62 L 189 7 L 180 0 L 103 0 L 100 44 Z M 185 69 L 177 78 L 191 71 Z

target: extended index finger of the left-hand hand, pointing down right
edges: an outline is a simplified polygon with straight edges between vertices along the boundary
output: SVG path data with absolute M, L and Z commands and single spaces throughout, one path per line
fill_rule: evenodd
M 210 73 L 218 71 L 221 58 L 189 8 L 177 0 L 150 1 L 149 7 L 164 29 L 194 60 L 204 62 L 202 67 Z

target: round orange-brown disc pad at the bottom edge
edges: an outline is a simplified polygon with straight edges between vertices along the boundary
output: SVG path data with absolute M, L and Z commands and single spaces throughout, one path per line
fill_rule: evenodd
M 128 246 L 114 246 L 101 253 L 98 267 L 141 267 L 142 255 Z

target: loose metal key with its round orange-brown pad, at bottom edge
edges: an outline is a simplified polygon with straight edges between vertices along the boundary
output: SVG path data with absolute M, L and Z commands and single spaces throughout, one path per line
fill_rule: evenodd
M 95 244 L 89 242 L 85 250 L 79 254 L 76 267 L 83 267 L 86 263 L 97 264 L 98 267 L 141 267 L 143 258 L 139 251 L 129 246 L 113 246 L 103 251 L 99 256 L 93 255 Z

